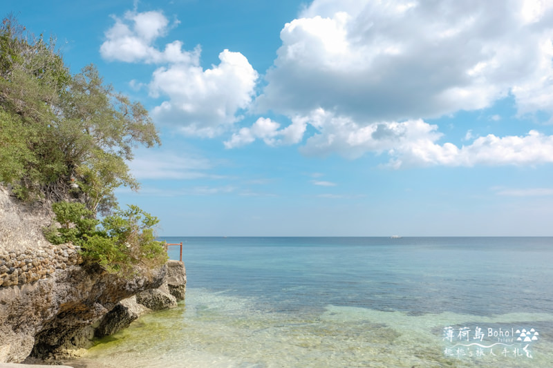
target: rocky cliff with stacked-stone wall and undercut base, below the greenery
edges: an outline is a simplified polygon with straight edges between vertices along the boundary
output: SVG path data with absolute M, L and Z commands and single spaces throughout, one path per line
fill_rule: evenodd
M 139 270 L 133 279 L 84 267 L 74 246 L 44 239 L 41 229 L 52 219 L 49 204 L 21 204 L 0 186 L 0 362 L 86 346 L 121 300 L 158 287 L 183 291 L 182 262 L 180 286 L 171 282 L 167 264 Z

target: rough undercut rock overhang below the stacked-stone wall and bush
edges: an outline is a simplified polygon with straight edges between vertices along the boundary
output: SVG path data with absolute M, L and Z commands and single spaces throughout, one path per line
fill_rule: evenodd
M 165 267 L 151 277 L 120 280 L 114 275 L 71 266 L 53 277 L 0 288 L 0 346 L 4 362 L 64 353 L 75 336 L 144 289 L 158 287 Z M 0 360 L 0 361 L 1 361 Z

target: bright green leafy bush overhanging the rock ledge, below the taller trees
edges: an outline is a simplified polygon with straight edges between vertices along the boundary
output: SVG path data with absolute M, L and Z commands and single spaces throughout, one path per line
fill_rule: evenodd
M 159 220 L 138 206 L 106 216 L 101 223 L 78 202 L 58 202 L 52 209 L 60 226 L 44 229 L 46 239 L 80 246 L 82 258 L 89 264 L 130 276 L 137 265 L 151 269 L 167 262 L 167 250 L 154 235 Z

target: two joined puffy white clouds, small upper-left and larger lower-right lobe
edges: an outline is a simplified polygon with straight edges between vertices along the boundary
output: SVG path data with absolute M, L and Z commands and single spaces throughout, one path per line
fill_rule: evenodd
M 188 135 L 214 137 L 239 119 L 238 110 L 250 105 L 258 74 L 240 52 L 223 50 L 221 63 L 204 70 L 200 46 L 187 51 L 181 41 L 172 41 L 163 50 L 156 48 L 156 39 L 170 28 L 162 12 L 129 11 L 114 19 L 100 47 L 104 59 L 168 64 L 153 72 L 148 85 L 152 97 L 167 98 L 152 111 L 157 122 Z M 144 84 L 133 81 L 133 86 Z

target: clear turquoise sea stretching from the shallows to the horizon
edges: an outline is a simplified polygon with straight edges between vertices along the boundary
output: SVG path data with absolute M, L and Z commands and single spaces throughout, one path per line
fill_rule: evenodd
M 165 240 L 184 244 L 185 302 L 100 341 L 89 358 L 118 367 L 553 367 L 553 238 Z M 170 255 L 178 259 L 178 247 Z

